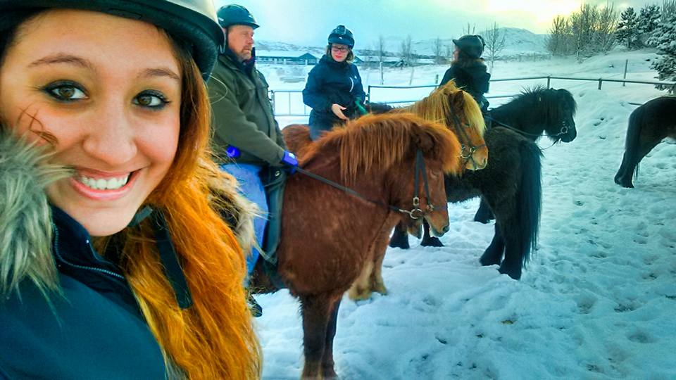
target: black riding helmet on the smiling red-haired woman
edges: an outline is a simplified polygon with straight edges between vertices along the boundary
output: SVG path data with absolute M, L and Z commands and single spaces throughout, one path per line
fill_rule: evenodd
M 189 46 L 204 80 L 225 44 L 211 0 L 0 0 L 0 36 L 47 8 L 98 11 L 161 27 Z M 4 44 L 6 41 L 0 38 L 0 55 Z

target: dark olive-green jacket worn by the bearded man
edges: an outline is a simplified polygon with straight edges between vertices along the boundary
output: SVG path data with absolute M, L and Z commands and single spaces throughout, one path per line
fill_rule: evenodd
M 237 61 L 232 51 L 218 57 L 208 81 L 213 108 L 212 148 L 216 160 L 225 160 L 225 148 L 242 152 L 238 163 L 280 165 L 286 145 L 268 98 L 268 82 L 253 65 Z

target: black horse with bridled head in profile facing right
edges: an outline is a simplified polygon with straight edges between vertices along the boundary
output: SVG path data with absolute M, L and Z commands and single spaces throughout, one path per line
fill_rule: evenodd
M 568 90 L 536 86 L 522 91 L 509 103 L 489 110 L 486 122 L 489 127 L 513 129 L 533 141 L 544 132 L 553 143 L 567 143 L 577 137 L 573 119 L 576 111 L 577 103 Z M 474 220 L 487 223 L 492 219 L 494 215 L 482 198 Z

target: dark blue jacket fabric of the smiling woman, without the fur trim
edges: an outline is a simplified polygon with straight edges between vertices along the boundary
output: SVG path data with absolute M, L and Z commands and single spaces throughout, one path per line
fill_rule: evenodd
M 0 300 L 0 379 L 165 379 L 161 350 L 118 267 L 53 208 L 63 296 L 25 280 Z

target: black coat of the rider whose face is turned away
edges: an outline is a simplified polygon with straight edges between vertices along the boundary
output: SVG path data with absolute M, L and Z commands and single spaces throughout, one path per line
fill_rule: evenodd
M 450 80 L 456 83 L 458 88 L 467 91 L 472 95 L 479 107 L 485 113 L 488 110 L 488 100 L 484 96 L 488 92 L 491 75 L 486 72 L 487 68 L 481 61 L 475 61 L 473 64 L 461 67 L 458 63 L 453 63 L 449 70 L 444 73 L 439 87 Z

